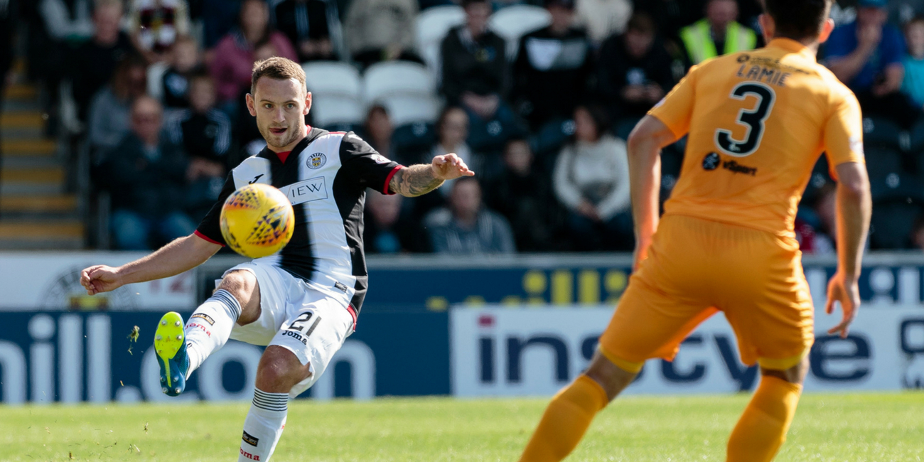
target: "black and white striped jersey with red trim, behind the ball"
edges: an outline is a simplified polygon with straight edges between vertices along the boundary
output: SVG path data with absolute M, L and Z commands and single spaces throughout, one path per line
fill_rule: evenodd
M 263 149 L 237 165 L 196 234 L 224 246 L 219 220 L 225 199 L 247 184 L 279 188 L 295 210 L 295 231 L 285 248 L 258 261 L 345 293 L 359 312 L 368 286 L 362 247 L 366 188 L 389 194 L 388 183 L 400 168 L 353 132 L 309 128 L 291 152 Z

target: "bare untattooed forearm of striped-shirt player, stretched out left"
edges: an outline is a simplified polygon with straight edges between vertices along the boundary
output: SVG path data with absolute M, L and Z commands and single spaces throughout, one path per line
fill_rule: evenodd
M 169 277 L 201 265 L 221 248 L 196 235 L 180 237 L 151 255 L 117 268 L 91 266 L 80 272 L 80 284 L 87 294 L 96 295 L 127 284 Z

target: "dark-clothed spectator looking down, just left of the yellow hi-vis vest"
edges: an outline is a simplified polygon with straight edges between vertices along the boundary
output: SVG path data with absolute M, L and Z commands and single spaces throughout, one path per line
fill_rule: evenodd
M 672 65 L 654 21 L 645 13 L 629 19 L 626 33 L 606 39 L 600 52 L 598 84 L 610 113 L 634 127 L 674 87 Z M 620 135 L 628 135 L 622 131 L 617 128 Z

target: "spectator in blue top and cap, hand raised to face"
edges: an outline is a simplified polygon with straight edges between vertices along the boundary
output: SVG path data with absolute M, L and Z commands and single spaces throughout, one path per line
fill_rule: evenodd
M 892 117 L 910 125 L 918 108 L 900 92 L 904 79 L 905 42 L 886 23 L 885 0 L 860 0 L 857 19 L 833 30 L 825 47 L 826 64 L 850 90 L 864 116 Z

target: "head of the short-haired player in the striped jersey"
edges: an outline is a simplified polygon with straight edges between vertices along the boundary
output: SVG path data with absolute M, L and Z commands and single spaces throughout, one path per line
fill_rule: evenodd
M 247 106 L 271 149 L 290 150 L 304 138 L 311 93 L 297 79 L 257 80 L 254 94 L 247 95 Z

